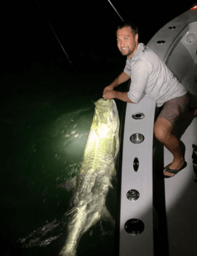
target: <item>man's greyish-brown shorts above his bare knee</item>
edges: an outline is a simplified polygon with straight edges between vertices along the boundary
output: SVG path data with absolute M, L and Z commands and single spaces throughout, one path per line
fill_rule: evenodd
M 191 96 L 189 92 L 181 97 L 170 99 L 168 102 L 165 102 L 157 119 L 165 118 L 173 125 L 173 127 L 176 127 L 176 124 L 182 119 L 182 116 L 189 109 L 190 102 Z

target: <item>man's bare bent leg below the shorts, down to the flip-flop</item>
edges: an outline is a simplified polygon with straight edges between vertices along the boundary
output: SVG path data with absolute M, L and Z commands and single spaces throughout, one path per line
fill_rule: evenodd
M 184 163 L 184 157 L 182 155 L 182 150 L 180 146 L 180 141 L 172 134 L 173 125 L 166 120 L 165 118 L 158 118 L 154 124 L 154 136 L 160 141 L 172 154 L 173 161 L 168 166 L 170 169 L 179 169 Z M 163 171 L 166 176 L 173 177 L 174 174 L 171 174 L 167 171 Z

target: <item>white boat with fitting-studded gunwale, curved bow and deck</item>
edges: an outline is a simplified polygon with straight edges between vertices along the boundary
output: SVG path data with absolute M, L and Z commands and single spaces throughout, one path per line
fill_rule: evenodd
M 148 47 L 190 91 L 191 106 L 197 106 L 197 10 L 188 10 L 162 27 Z M 192 145 L 197 145 L 197 118 L 192 122 L 181 121 L 174 130 L 185 148 L 187 167 L 176 177 L 164 180 L 157 177 L 157 171 L 171 163 L 173 156 L 153 136 L 158 108 L 154 110 L 155 102 L 147 96 L 139 104 L 128 103 L 126 107 L 119 255 L 151 256 L 160 251 L 160 255 L 194 256 L 197 255 L 197 184 Z M 145 118 L 135 120 L 134 113 L 144 113 Z M 137 132 L 145 137 L 139 144 L 129 141 L 129 136 Z M 135 157 L 139 160 L 137 172 L 133 168 Z M 136 201 L 126 197 L 132 189 L 140 193 Z M 154 207 L 159 219 L 158 233 L 153 223 Z M 126 232 L 126 221 L 131 218 L 143 221 L 144 230 L 139 235 Z M 157 242 L 162 247 L 155 249 Z

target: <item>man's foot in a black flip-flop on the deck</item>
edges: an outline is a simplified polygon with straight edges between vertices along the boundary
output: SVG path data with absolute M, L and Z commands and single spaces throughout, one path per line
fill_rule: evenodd
M 174 175 L 178 174 L 183 168 L 187 166 L 185 160 L 180 160 L 179 162 L 172 162 L 168 166 L 165 166 L 163 170 L 163 174 L 165 178 L 173 177 Z

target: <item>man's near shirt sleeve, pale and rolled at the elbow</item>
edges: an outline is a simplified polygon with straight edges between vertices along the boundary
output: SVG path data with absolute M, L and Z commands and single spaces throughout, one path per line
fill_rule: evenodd
M 148 83 L 148 77 L 148 63 L 144 60 L 137 60 L 137 63 L 132 66 L 131 85 L 129 92 L 127 93 L 132 102 L 140 102 L 140 99 L 143 96 L 143 91 Z

